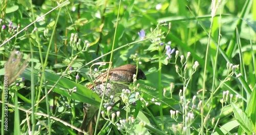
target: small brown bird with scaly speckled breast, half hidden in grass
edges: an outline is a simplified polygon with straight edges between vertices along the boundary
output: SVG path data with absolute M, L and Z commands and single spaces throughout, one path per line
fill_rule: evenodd
M 128 88 L 128 85 L 134 81 L 133 76 L 136 74 L 136 72 L 137 66 L 132 64 L 122 65 L 110 70 L 109 82 L 106 83 L 105 96 L 121 93 L 122 89 Z M 98 76 L 94 81 L 94 84 L 88 86 L 88 88 L 95 91 L 100 97 L 103 95 L 107 74 L 108 73 L 105 72 L 104 74 Z M 146 80 L 146 76 L 142 70 L 138 69 L 136 79 Z M 93 125 L 93 117 L 97 115 L 97 110 L 98 108 L 96 106 L 87 103 L 83 104 L 84 117 L 80 129 L 89 132 L 90 135 L 93 134 L 94 131 L 93 126 L 95 125 Z M 80 135 L 83 133 L 79 132 L 78 134 Z

